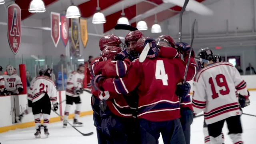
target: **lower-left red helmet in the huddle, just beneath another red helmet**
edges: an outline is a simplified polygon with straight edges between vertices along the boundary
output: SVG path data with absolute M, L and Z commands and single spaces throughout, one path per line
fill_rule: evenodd
M 114 60 L 116 54 L 121 51 L 121 48 L 118 48 L 116 46 L 106 46 L 106 48 L 102 50 L 101 58 L 102 60 Z

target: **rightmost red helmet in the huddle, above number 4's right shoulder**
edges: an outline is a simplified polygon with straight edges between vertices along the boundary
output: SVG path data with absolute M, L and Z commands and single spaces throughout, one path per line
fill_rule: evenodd
M 159 46 L 167 46 L 167 47 L 175 48 L 175 43 L 176 42 L 174 41 L 174 39 L 168 35 L 162 35 L 156 39 L 156 44 Z

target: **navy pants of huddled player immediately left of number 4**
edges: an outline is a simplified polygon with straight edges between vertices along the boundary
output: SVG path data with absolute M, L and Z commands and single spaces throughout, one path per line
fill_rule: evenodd
M 107 106 L 101 108 L 100 116 L 102 132 L 108 137 L 108 144 L 134 144 L 134 118 L 116 116 Z

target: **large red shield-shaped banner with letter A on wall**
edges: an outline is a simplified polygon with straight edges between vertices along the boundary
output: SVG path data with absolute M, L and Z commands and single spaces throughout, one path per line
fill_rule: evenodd
M 7 8 L 7 36 L 12 52 L 17 54 L 21 41 L 21 9 L 17 4 Z

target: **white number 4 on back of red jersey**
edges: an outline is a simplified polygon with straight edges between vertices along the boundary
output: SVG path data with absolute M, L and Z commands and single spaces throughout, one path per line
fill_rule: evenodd
M 164 62 L 162 60 L 156 61 L 156 80 L 162 80 L 164 86 L 168 86 L 168 75 L 165 73 Z

